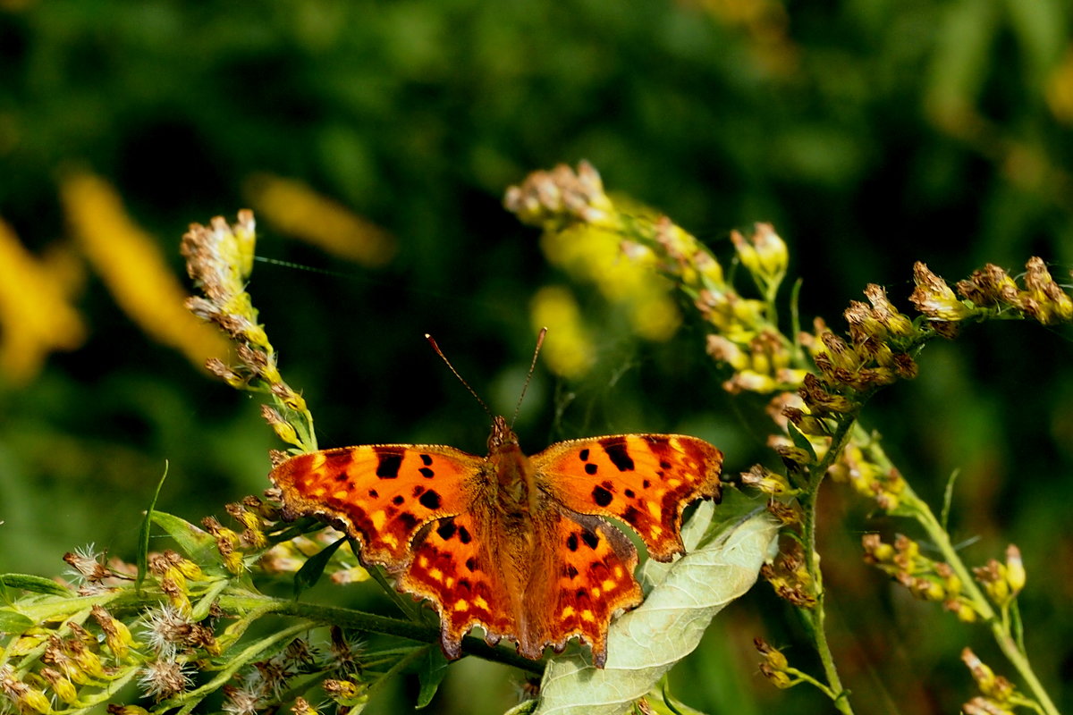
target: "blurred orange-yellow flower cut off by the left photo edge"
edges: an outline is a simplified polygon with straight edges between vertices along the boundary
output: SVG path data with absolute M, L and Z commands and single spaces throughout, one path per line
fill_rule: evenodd
M 74 349 L 86 339 L 82 318 L 69 302 L 68 284 L 0 221 L 0 370 L 6 379 L 33 379 L 50 352 Z

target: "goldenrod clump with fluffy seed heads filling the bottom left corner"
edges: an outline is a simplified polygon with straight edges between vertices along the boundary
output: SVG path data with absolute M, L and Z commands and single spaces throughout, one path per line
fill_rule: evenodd
M 267 567 L 268 547 L 293 543 L 281 538 L 294 527 L 278 521 L 278 505 L 253 496 L 227 505 L 227 512 L 238 528 L 209 518 L 207 533 L 155 512 L 158 523 L 201 561 L 175 550 L 149 553 L 141 579 L 138 567 L 106 562 L 92 547 L 64 555 L 70 585 L 5 575 L 3 587 L 13 600 L 0 606 L 6 631 L 0 639 L 0 713 L 86 712 L 136 684 L 149 710 L 111 702 L 109 713 L 192 709 L 220 688 L 227 698 L 225 712 L 253 715 L 294 698 L 283 695 L 290 687 L 297 685 L 298 692 L 313 687 L 313 674 L 346 680 L 359 691 L 347 701 L 361 700 L 367 687 L 359 677 L 363 644 L 332 622 L 302 620 L 255 636 L 260 640 L 253 645 L 234 647 L 258 619 L 293 605 L 290 598 L 259 593 L 251 577 L 275 572 Z M 309 553 L 319 549 L 308 541 Z M 299 553 L 289 570 L 306 560 Z M 342 575 L 336 582 L 346 583 L 357 578 L 355 563 L 343 548 L 323 566 L 333 577 Z M 30 595 L 14 598 L 19 589 Z M 321 642 L 310 640 L 318 626 L 327 631 Z M 221 673 L 238 673 L 238 685 Z M 216 679 L 214 687 L 195 687 L 210 679 Z M 300 710 L 300 703 L 296 706 Z M 302 712 L 315 712 L 308 702 L 305 706 Z

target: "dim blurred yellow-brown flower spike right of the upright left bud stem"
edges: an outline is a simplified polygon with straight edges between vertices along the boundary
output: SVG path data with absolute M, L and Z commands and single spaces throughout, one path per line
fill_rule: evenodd
M 258 215 L 280 230 L 363 266 L 383 266 L 395 237 L 299 181 L 261 174 L 247 182 Z

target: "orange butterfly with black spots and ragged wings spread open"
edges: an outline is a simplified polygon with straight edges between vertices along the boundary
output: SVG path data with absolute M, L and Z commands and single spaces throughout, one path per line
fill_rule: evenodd
M 606 517 L 635 531 L 649 555 L 684 551 L 681 511 L 720 496 L 722 452 L 695 437 L 623 434 L 552 445 L 527 457 L 502 417 L 488 456 L 442 445 L 366 445 L 299 455 L 273 470 L 284 516 L 336 522 L 400 591 L 439 612 L 441 643 L 514 640 L 528 658 L 579 636 L 606 659 L 616 612 L 642 600 L 637 552 Z

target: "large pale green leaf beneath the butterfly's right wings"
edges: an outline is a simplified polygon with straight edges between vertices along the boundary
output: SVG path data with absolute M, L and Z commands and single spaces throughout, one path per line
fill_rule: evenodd
M 712 508 L 702 504 L 697 513 L 705 519 L 702 509 L 710 513 Z M 684 536 L 697 539 L 703 530 L 690 526 Z M 588 653 L 552 658 L 535 712 L 617 715 L 627 710 L 696 647 L 716 613 L 752 586 L 777 534 L 775 519 L 758 512 L 670 566 L 646 564 L 646 577 L 656 585 L 644 604 L 612 624 L 606 667 L 593 667 Z

